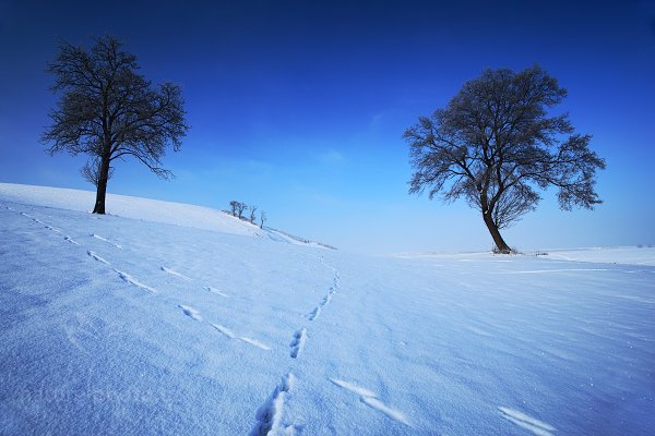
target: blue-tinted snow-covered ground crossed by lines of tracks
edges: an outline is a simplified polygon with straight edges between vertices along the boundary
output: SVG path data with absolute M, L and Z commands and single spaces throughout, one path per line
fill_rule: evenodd
M 124 202 L 0 184 L 0 434 L 654 434 L 652 249 L 364 257 Z

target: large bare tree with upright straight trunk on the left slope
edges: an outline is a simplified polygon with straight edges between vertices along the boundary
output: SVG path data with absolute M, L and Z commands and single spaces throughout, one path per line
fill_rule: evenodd
M 168 145 L 180 148 L 189 129 L 180 86 L 167 82 L 155 87 L 138 70 L 136 57 L 114 36 L 95 38 L 88 51 L 62 41 L 48 64 L 56 78 L 52 90 L 61 92 L 61 98 L 43 141 L 52 143 L 50 155 L 90 155 L 82 174 L 97 187 L 94 214 L 105 214 L 107 181 L 117 159 L 132 156 L 167 179 L 172 174 L 162 168 L 162 158 Z

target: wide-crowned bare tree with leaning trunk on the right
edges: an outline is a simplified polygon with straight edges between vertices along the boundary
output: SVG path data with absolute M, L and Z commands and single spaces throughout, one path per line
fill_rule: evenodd
M 590 149 L 590 135 L 574 133 L 567 113 L 548 117 L 565 96 L 539 66 L 485 71 L 403 135 L 415 169 L 409 193 L 464 197 L 501 253 L 511 250 L 500 229 L 536 208 L 536 189 L 558 187 L 562 209 L 593 209 L 602 203 L 594 185 L 605 160 Z

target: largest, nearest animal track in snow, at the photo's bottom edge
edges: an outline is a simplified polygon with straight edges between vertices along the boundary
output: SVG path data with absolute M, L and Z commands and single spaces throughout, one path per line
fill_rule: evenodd
M 250 436 L 265 435 L 295 435 L 297 429 L 302 426 L 297 424 L 287 424 L 284 422 L 284 403 L 289 391 L 294 388 L 296 378 L 294 374 L 288 373 L 282 377 L 281 383 L 275 387 L 266 401 L 257 410 L 254 417 L 257 424 L 250 432 Z

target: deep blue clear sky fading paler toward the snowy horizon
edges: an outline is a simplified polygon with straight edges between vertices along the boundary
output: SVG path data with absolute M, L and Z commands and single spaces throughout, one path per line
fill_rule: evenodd
M 192 129 L 158 180 L 126 161 L 109 192 L 265 209 L 270 225 L 360 252 L 489 249 L 477 211 L 407 195 L 403 131 L 487 68 L 539 63 L 557 108 L 607 160 L 605 204 L 555 190 L 505 231 L 523 250 L 655 243 L 653 1 L 0 2 L 0 181 L 92 190 L 85 158 L 38 138 L 58 39 L 112 34 L 155 83 L 183 86 Z M 90 205 L 90 208 L 93 205 Z M 107 205 L 110 211 L 111 205 Z

